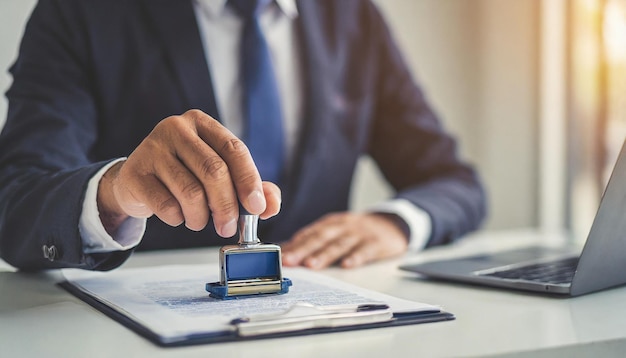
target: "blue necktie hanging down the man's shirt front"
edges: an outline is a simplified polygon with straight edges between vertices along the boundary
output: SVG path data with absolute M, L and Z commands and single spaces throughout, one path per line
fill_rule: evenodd
M 272 0 L 229 0 L 244 19 L 241 46 L 244 141 L 263 180 L 279 183 L 284 158 L 283 123 L 267 42 L 261 32 L 259 14 Z

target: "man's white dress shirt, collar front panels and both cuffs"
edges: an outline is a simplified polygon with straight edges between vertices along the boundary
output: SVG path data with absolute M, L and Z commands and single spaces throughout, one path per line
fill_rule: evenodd
M 243 21 L 227 6 L 227 0 L 194 0 L 193 6 L 213 79 L 215 100 L 221 116 L 219 120 L 236 136 L 241 136 L 243 80 L 239 71 L 239 53 Z M 299 137 L 304 100 L 302 61 L 297 51 L 298 9 L 295 0 L 276 0 L 260 16 L 261 29 L 270 47 L 278 82 L 287 148 L 286 165 L 290 166 L 295 141 Z M 96 203 L 98 183 L 115 162 L 102 168 L 88 184 L 79 224 L 83 250 L 87 254 L 131 249 L 139 244 L 145 232 L 146 219 L 129 218 L 117 230 L 115 237 L 111 237 L 100 221 Z M 386 201 L 368 211 L 392 213 L 405 220 L 410 230 L 410 249 L 423 248 L 430 236 L 430 217 L 408 200 Z

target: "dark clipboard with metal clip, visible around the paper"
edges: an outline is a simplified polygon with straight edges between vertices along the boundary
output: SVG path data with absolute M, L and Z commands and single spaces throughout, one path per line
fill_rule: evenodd
M 390 306 L 380 301 L 356 306 L 336 305 L 328 307 L 318 307 L 300 302 L 279 313 L 254 314 L 234 318 L 229 322 L 229 329 L 169 336 L 159 333 L 154 327 L 142 322 L 130 312 L 119 309 L 119 307 L 116 308 L 106 298 L 98 297 L 76 282 L 66 280 L 59 283 L 59 286 L 109 318 L 161 347 L 327 334 L 455 319 L 453 314 L 435 306 L 428 306 L 426 309 L 413 312 L 394 312 Z M 297 284 L 298 281 L 296 280 L 294 285 Z

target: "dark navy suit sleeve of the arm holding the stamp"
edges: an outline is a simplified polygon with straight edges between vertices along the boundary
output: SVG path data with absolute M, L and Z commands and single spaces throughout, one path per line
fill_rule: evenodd
M 0 256 L 24 270 L 107 270 L 130 252 L 83 253 L 78 222 L 98 139 L 81 14 L 42 0 L 11 68 L 9 110 L 0 134 Z

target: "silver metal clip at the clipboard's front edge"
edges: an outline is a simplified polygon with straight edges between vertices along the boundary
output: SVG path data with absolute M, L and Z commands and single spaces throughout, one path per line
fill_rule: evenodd
M 231 321 L 240 337 L 254 337 L 314 329 L 360 326 L 394 320 L 386 304 L 315 306 L 297 303 L 278 314 L 259 314 Z

